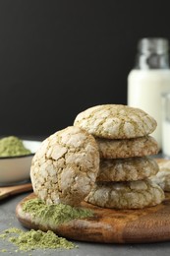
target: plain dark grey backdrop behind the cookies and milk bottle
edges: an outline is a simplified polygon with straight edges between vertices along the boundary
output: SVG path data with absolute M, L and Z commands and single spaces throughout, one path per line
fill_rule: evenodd
M 170 39 L 169 1 L 0 0 L 0 136 L 48 136 L 127 103 L 138 40 Z

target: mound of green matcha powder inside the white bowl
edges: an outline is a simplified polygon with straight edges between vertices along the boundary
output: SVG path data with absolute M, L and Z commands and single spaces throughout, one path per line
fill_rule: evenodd
M 29 155 L 31 152 L 24 146 L 23 141 L 16 136 L 0 139 L 0 157 L 17 157 Z

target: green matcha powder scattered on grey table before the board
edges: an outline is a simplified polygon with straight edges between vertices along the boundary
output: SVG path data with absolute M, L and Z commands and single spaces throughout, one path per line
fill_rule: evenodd
M 9 228 L 4 230 L 0 238 L 8 237 L 8 240 L 17 245 L 21 251 L 29 251 L 34 249 L 73 249 L 77 246 L 68 241 L 66 238 L 57 236 L 53 231 L 48 230 L 43 232 L 41 230 L 23 231 L 19 228 Z

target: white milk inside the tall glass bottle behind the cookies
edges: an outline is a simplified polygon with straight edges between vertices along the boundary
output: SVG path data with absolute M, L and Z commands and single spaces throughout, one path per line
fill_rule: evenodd
M 128 76 L 128 105 L 142 108 L 157 121 L 151 134 L 162 148 L 161 95 L 170 92 L 170 71 L 132 70 Z

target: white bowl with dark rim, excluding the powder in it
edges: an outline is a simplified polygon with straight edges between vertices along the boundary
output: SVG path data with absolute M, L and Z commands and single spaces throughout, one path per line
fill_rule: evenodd
M 30 150 L 31 154 L 20 157 L 0 158 L 0 185 L 9 185 L 29 179 L 31 160 L 41 142 L 23 140 L 23 144 Z

